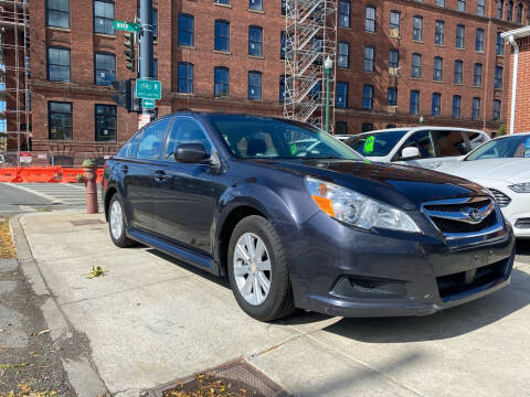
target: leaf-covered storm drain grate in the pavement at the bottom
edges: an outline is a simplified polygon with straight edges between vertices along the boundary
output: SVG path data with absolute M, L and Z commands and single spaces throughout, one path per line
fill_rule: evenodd
M 230 362 L 158 387 L 155 397 L 288 397 L 272 379 L 244 361 Z

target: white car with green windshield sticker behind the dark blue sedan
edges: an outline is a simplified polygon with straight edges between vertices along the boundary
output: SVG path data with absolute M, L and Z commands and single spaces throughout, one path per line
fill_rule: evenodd
M 453 127 L 391 128 L 353 136 L 348 146 L 373 161 L 437 169 L 487 142 L 486 132 Z

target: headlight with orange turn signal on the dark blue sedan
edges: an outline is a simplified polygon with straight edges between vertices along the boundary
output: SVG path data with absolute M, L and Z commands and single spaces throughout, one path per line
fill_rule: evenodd
M 421 233 L 403 211 L 369 198 L 347 187 L 306 178 L 306 187 L 318 207 L 331 217 L 363 229 L 372 227 Z

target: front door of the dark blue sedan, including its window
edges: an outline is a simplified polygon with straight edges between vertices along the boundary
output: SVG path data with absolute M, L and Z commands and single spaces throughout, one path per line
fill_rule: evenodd
M 201 125 L 189 117 L 174 117 L 157 172 L 153 205 L 156 233 L 172 243 L 212 255 L 214 211 L 224 192 L 222 172 L 209 163 L 181 163 L 174 152 L 182 143 L 202 143 L 208 155 L 212 144 Z

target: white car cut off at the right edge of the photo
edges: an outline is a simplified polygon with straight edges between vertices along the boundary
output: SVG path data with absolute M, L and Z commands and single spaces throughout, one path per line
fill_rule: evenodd
M 530 238 L 530 132 L 496 138 L 436 171 L 487 187 L 518 238 Z

